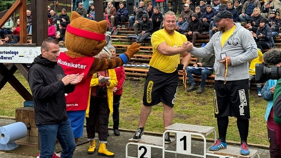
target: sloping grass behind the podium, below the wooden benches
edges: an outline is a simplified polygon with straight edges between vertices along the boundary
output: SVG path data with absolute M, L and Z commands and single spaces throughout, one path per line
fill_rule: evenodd
M 28 83 L 23 76 L 18 71 L 14 75 L 30 91 Z M 143 87 L 144 79 L 141 81 L 125 81 L 120 101 L 120 128 L 137 129 L 142 105 Z M 0 93 L 0 116 L 15 117 L 15 110 L 16 108 L 23 107 L 24 99 L 9 83 L 1 89 Z M 257 96 L 256 89 L 250 90 L 251 119 L 248 136 L 249 143 L 269 145 L 266 122 L 264 120 L 266 104 L 266 101 Z M 162 112 L 162 104 L 153 106 L 152 112 L 145 124 L 145 131 L 163 132 Z M 109 126 L 112 127 L 111 117 L 109 121 Z M 216 127 L 218 133 L 217 120 L 214 117 L 213 109 L 213 88 L 206 87 L 203 94 L 200 95 L 195 91 L 186 92 L 183 90 L 183 86 L 179 86 L 173 122 L 213 126 Z M 213 138 L 213 136 L 209 137 Z M 226 139 L 240 141 L 236 118 L 229 118 Z

